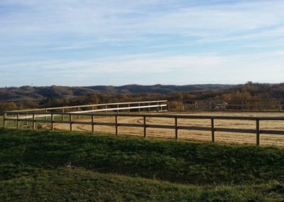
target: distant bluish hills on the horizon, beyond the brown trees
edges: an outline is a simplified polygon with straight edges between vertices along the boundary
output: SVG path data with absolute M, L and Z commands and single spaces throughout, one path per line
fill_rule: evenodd
M 18 101 L 40 101 L 48 97 L 57 99 L 69 99 L 72 97 L 103 92 L 107 95 L 119 93 L 161 93 L 188 92 L 202 90 L 224 90 L 233 85 L 123 85 L 123 86 L 88 86 L 88 87 L 67 87 L 52 85 L 48 87 L 1 87 L 0 102 Z

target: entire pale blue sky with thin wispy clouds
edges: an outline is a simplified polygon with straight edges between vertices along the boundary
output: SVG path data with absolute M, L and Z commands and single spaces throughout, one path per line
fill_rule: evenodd
M 0 0 L 0 86 L 283 75 L 284 0 Z

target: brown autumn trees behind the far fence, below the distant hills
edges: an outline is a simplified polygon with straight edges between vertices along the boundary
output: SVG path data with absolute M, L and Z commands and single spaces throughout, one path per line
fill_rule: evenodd
M 22 87 L 21 95 L 32 94 L 33 87 Z M 25 90 L 26 89 L 26 90 Z M 254 99 L 284 99 L 284 83 L 263 84 L 248 82 L 244 85 L 222 87 L 221 89 L 191 90 L 167 93 L 132 93 L 127 90 L 93 91 L 75 90 L 75 95 L 70 96 L 70 89 L 65 87 L 50 87 L 42 90 L 42 97 L 38 100 L 19 99 L 14 102 L 0 102 L 0 112 L 5 110 L 21 110 L 40 107 L 62 107 L 72 105 L 90 105 L 109 102 L 136 102 L 150 100 L 254 100 Z M 13 92 L 14 93 L 14 92 Z M 25 94 L 26 93 L 26 94 Z M 74 92 L 73 92 L 74 93 Z M 33 94 L 32 94 L 33 95 Z M 64 96 L 65 95 L 65 96 Z M 1 95 L 3 96 L 3 95 Z

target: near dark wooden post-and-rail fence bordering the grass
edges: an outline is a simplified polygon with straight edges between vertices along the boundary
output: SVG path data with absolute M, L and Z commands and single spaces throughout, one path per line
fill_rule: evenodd
M 178 139 L 178 131 L 180 129 L 184 130 L 199 130 L 211 132 L 212 142 L 215 142 L 215 132 L 233 132 L 233 133 L 244 133 L 244 134 L 256 134 L 256 145 L 260 145 L 260 136 L 261 134 L 280 134 L 284 135 L 284 130 L 263 130 L 261 129 L 261 121 L 284 121 L 284 117 L 232 117 L 232 116 L 195 116 L 195 115 L 151 115 L 151 114 L 93 114 L 93 113 L 83 113 L 78 112 L 76 115 L 87 116 L 91 120 L 90 122 L 80 122 L 74 121 L 73 117 L 75 116 L 72 112 L 9 112 L 10 115 L 16 115 L 16 117 L 6 117 L 4 114 L 4 127 L 6 127 L 6 122 L 16 121 L 17 129 L 20 128 L 19 122 L 32 122 L 32 128 L 35 129 L 35 123 L 50 123 L 51 129 L 54 129 L 54 124 L 69 124 L 70 131 L 72 131 L 73 124 L 86 124 L 92 126 L 92 132 L 96 125 L 103 126 L 113 126 L 115 127 L 116 135 L 119 135 L 119 127 L 141 127 L 143 128 L 143 136 L 147 137 L 147 128 L 158 128 L 158 129 L 173 129 L 175 131 L 175 139 Z M 28 116 L 27 116 L 28 114 Z M 23 116 L 21 116 L 23 115 Z M 50 120 L 45 119 L 36 119 L 40 115 L 50 116 Z M 54 117 L 56 115 L 68 116 L 68 120 L 60 119 L 56 120 Z M 109 122 L 96 122 L 96 117 L 114 117 L 114 123 Z M 140 117 L 143 119 L 143 124 L 129 124 L 129 123 L 120 123 L 119 117 Z M 173 125 L 164 125 L 164 124 L 148 124 L 147 118 L 156 117 L 156 118 L 168 118 L 173 119 Z M 194 127 L 194 126 L 179 126 L 179 119 L 207 119 L 211 120 L 211 127 Z M 251 120 L 256 123 L 255 129 L 233 129 L 233 128 L 222 128 L 215 127 L 214 120 L 223 119 L 223 120 Z

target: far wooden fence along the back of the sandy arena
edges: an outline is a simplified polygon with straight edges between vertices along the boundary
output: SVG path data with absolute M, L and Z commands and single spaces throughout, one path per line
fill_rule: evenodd
M 119 112 L 121 110 L 150 111 L 163 104 L 168 111 L 248 111 L 248 112 L 284 112 L 284 100 L 157 100 L 146 102 L 118 102 L 97 105 L 78 105 L 68 107 L 50 107 L 32 110 L 13 110 L 9 112 Z M 166 106 L 165 106 L 166 105 Z M 147 107 L 148 106 L 148 107 Z M 158 109 L 159 110 L 159 109 Z M 163 110 L 163 109 L 162 109 Z

